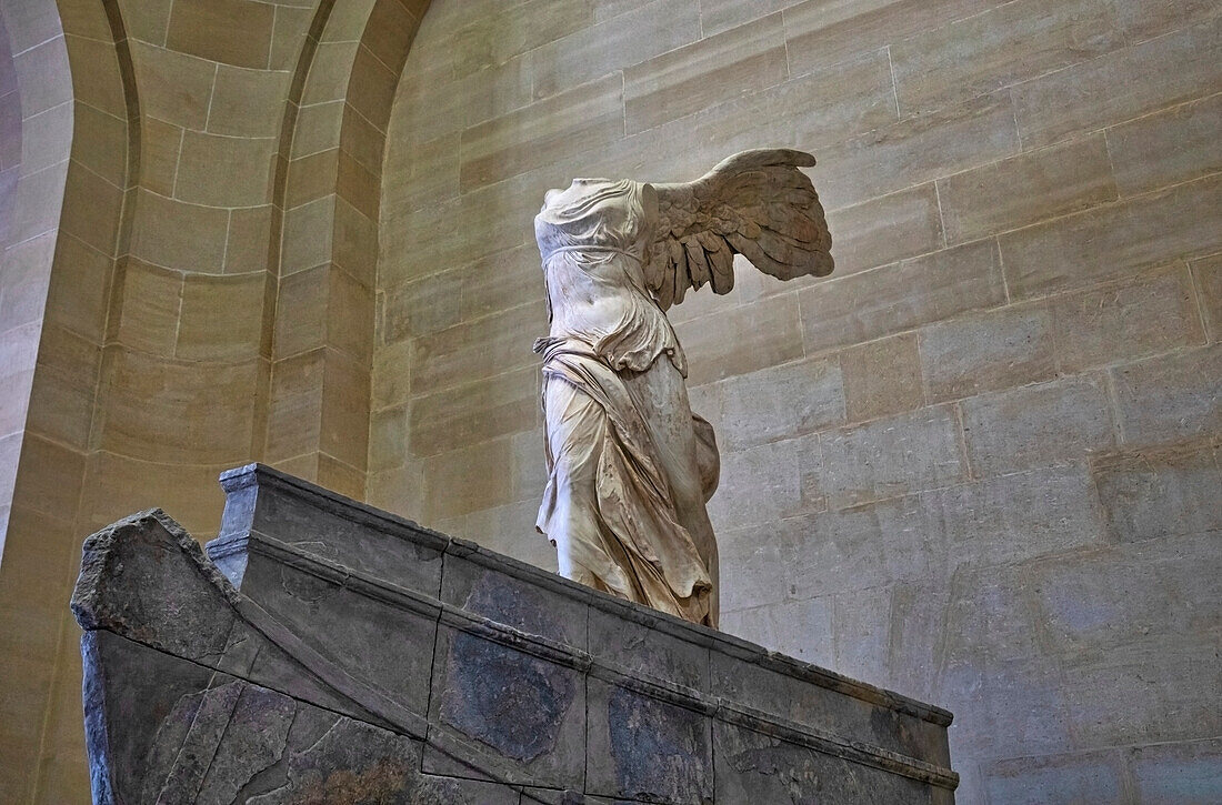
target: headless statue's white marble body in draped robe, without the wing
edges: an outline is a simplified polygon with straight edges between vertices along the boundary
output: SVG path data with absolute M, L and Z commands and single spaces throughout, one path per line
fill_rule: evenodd
M 646 286 L 653 188 L 576 180 L 535 235 L 547 286 L 547 486 L 538 529 L 566 578 L 716 625 L 711 426 L 694 415 L 675 330 Z

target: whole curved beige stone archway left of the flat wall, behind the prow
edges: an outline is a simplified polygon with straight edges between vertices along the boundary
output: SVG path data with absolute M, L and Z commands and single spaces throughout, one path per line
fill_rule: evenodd
M 426 6 L 4 0 L 0 801 L 88 799 L 87 534 L 160 506 L 208 539 L 251 461 L 363 495 L 385 129 Z

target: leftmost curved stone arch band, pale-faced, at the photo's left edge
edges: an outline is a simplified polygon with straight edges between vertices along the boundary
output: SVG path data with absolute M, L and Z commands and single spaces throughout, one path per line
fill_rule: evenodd
M 111 286 L 138 171 L 139 104 L 116 0 L 27 0 L 10 35 L 22 97 L 15 227 L 4 261 L 28 305 L 28 385 L 0 564 L 6 757 L 0 799 L 55 801 L 88 789 L 76 633 L 64 595 L 79 546 L 81 492 Z M 12 276 L 12 275 L 10 275 Z M 7 501 L 6 501 L 7 502 Z

